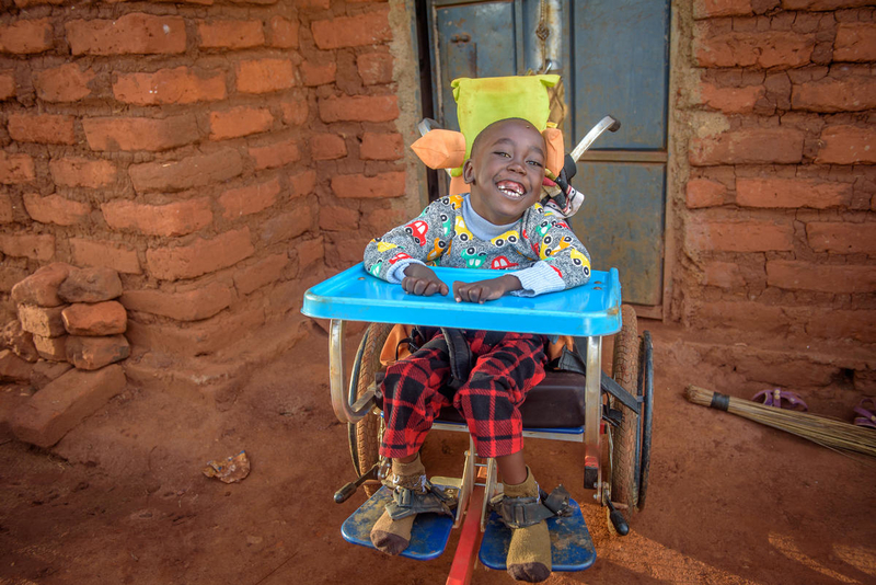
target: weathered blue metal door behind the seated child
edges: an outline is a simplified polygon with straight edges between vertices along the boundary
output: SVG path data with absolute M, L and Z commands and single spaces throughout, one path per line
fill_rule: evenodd
M 442 126 L 459 128 L 453 79 L 523 74 L 546 59 L 565 83 L 568 150 L 604 115 L 621 121 L 578 162 L 573 184 L 587 199 L 572 226 L 595 268 L 620 271 L 625 302 L 660 306 L 669 0 L 429 0 L 428 24 Z

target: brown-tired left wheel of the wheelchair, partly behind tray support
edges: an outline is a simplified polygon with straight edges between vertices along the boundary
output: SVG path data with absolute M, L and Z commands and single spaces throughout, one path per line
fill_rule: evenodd
M 356 353 L 357 365 L 354 365 L 354 372 L 358 369 L 358 377 L 350 383 L 356 383 L 356 397 L 362 395 L 368 387 L 374 382 L 374 377 L 381 369 L 380 352 L 383 344 L 392 331 L 393 325 L 389 323 L 371 323 L 365 331 L 362 341 L 359 342 L 359 349 Z M 357 368 L 358 366 L 358 368 Z M 356 424 L 348 424 L 347 432 L 349 438 L 349 451 L 353 457 L 353 466 L 356 473 L 365 473 L 379 459 L 380 433 L 383 418 L 374 412 L 368 413 L 365 418 Z M 378 486 L 364 485 L 365 493 L 371 497 L 377 492 Z

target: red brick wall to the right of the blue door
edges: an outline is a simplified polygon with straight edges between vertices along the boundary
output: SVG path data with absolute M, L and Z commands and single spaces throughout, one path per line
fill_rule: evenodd
M 780 346 L 831 340 L 874 367 L 875 12 L 693 1 L 675 318 Z

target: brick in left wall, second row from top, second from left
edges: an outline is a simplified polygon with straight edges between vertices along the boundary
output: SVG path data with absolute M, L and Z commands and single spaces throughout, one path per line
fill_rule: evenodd
M 154 73 L 118 73 L 113 95 L 119 102 L 136 105 L 215 102 L 227 96 L 226 74 L 188 67 L 160 69 Z

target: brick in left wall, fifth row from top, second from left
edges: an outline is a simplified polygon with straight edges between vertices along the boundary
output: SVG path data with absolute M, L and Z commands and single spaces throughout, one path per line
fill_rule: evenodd
M 209 197 L 165 205 L 112 200 L 101 205 L 106 225 L 114 230 L 135 230 L 147 236 L 185 236 L 212 223 Z

